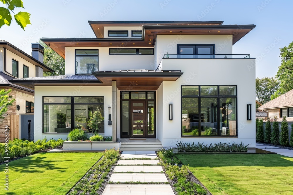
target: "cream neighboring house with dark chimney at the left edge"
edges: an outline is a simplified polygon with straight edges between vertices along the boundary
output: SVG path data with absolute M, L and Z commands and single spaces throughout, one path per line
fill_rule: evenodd
M 0 119 L 0 142 L 4 142 L 6 125 L 10 129 L 9 139 L 28 139 L 28 120 L 31 120 L 30 129 L 33 132 L 34 90 L 9 82 L 14 78 L 39 77 L 43 75 L 43 71 L 53 71 L 43 64 L 43 47 L 32 44 L 32 50 L 33 57 L 9 42 L 0 40 L 0 89 L 12 89 L 10 95 L 16 99 L 12 106 L 8 106 L 4 119 Z M 25 122 L 21 123 L 21 120 Z

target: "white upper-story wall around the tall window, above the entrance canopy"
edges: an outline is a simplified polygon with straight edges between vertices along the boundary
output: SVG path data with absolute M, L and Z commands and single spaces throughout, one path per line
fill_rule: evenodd
M 115 47 L 117 48 L 117 47 Z M 124 48 L 124 47 L 121 47 Z M 131 47 L 141 48 L 141 47 Z M 106 70 L 131 70 L 149 69 L 150 63 L 154 61 L 153 55 L 109 55 L 109 47 L 66 47 L 65 49 L 65 74 L 75 74 L 75 49 L 98 49 L 99 71 Z M 154 69 L 151 69 L 154 70 Z

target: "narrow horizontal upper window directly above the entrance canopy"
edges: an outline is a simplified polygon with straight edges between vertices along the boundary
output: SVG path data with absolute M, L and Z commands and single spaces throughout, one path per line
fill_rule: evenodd
M 110 48 L 109 55 L 154 55 L 154 49 L 151 48 Z

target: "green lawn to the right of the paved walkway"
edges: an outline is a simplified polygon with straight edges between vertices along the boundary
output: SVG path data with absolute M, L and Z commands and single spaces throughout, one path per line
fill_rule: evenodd
M 293 194 L 293 158 L 277 154 L 180 154 L 213 195 Z

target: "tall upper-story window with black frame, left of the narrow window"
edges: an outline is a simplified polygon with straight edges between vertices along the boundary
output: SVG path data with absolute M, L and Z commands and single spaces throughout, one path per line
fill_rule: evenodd
M 98 49 L 75 50 L 75 74 L 91 74 L 99 70 Z

